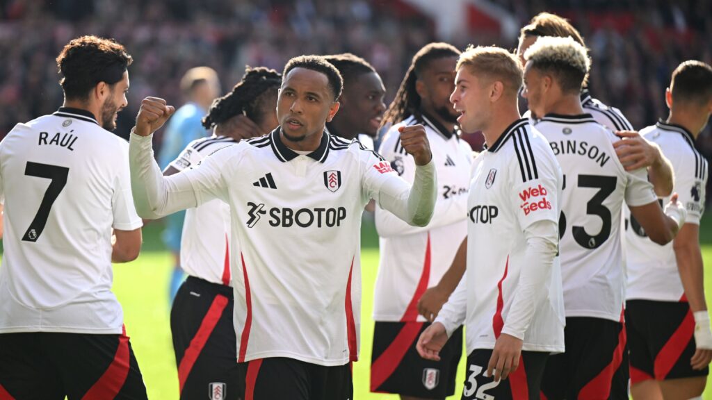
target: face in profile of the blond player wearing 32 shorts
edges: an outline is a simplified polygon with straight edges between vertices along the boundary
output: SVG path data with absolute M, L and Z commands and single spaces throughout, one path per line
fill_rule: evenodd
M 465 132 L 484 130 L 488 125 L 488 87 L 489 85 L 471 73 L 466 65 L 457 70 L 455 90 L 449 101 L 452 102 L 455 112 L 459 113 L 457 122 Z

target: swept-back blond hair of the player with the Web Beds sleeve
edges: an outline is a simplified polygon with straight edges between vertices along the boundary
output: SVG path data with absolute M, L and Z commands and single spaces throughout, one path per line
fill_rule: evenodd
M 522 86 L 522 63 L 501 47 L 470 45 L 457 60 L 456 70 L 463 66 L 473 74 L 500 81 L 511 95 L 517 95 Z

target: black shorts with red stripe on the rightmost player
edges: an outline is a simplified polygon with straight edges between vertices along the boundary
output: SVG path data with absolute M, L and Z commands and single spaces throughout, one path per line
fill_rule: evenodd
M 687 302 L 628 300 L 625 310 L 630 348 L 630 379 L 706 377 L 709 369 L 692 369 L 695 320 Z

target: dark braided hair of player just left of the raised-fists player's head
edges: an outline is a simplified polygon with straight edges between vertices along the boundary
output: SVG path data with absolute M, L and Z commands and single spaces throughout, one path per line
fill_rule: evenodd
M 247 67 L 242 80 L 232 91 L 213 101 L 208 115 L 203 118 L 203 126 L 210 129 L 242 113 L 259 125 L 265 115 L 264 101 L 269 95 L 276 93 L 281 82 L 282 75 L 276 70 Z M 271 105 L 270 109 L 274 108 L 275 105 Z

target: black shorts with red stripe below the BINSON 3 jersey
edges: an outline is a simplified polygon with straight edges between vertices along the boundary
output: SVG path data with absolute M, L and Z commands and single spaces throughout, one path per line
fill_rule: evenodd
M 541 391 L 548 400 L 628 400 L 626 332 L 621 322 L 566 318 L 566 352 L 549 357 Z

